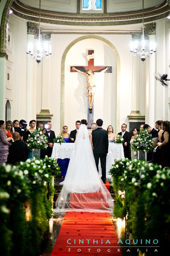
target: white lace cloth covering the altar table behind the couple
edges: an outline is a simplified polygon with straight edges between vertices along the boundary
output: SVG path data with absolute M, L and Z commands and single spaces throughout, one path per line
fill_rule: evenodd
M 64 159 L 70 158 L 74 151 L 74 143 L 54 143 L 51 158 Z M 109 170 L 112 168 L 112 164 L 115 163 L 115 159 L 124 158 L 123 145 L 116 143 L 108 143 L 108 154 L 106 158 L 106 181 L 112 181 L 112 176 Z M 99 175 L 101 176 L 101 165 L 99 159 Z

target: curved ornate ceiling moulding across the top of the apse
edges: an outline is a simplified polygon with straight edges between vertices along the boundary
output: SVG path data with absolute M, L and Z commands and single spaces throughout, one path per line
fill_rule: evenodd
M 114 13 L 107 13 L 109 8 L 110 0 L 104 2 L 104 11 L 103 13 L 80 13 L 79 4 L 81 0 L 44 0 L 42 1 L 41 7 L 41 22 L 48 23 L 48 24 L 58 24 L 58 25 L 71 25 L 71 26 L 115 26 L 115 25 L 128 25 L 128 24 L 137 24 L 142 23 L 142 8 L 140 6 L 141 0 L 112 0 L 112 3 L 121 2 L 120 6 L 126 6 L 125 4 L 132 4 L 138 3 L 137 9 L 133 11 L 124 11 L 124 12 L 114 12 Z M 146 0 L 145 0 L 146 1 Z M 145 4 L 144 1 L 144 4 Z M 75 9 L 77 8 L 76 13 L 72 12 L 58 12 L 58 11 L 51 11 L 50 4 L 53 6 L 72 6 Z M 27 3 L 27 4 L 26 4 Z M 14 14 L 24 18 L 28 21 L 32 22 L 39 22 L 39 7 L 38 7 L 39 0 L 14 0 L 11 9 L 13 10 Z M 107 3 L 107 5 L 106 5 Z M 140 3 L 140 4 L 139 4 Z M 146 8 L 144 6 L 144 22 L 153 22 L 159 19 L 166 17 L 170 11 L 170 7 L 167 1 L 156 1 L 150 0 L 146 1 L 146 6 L 149 6 L 148 3 L 152 5 L 152 7 Z M 158 4 L 159 3 L 159 4 Z M 29 5 L 28 5 L 29 4 Z M 46 4 L 46 8 L 45 8 Z M 75 5 L 76 4 L 76 5 Z M 136 4 L 137 5 L 137 4 Z M 110 4 L 111 6 L 111 4 Z M 138 9 L 140 7 L 140 9 Z M 43 9 L 44 8 L 44 9 Z M 79 8 L 79 9 L 78 9 Z M 52 8 L 53 10 L 56 8 Z M 125 10 L 125 9 L 124 9 Z

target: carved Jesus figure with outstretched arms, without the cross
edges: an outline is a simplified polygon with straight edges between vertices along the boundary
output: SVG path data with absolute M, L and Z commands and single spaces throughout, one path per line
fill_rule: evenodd
M 99 74 L 99 73 L 104 73 L 106 70 L 108 70 L 110 67 L 106 67 L 104 70 L 93 73 L 91 69 L 87 70 L 86 72 L 82 72 L 78 70 L 75 67 L 72 67 L 73 70 L 77 71 L 78 73 L 81 73 L 86 76 L 87 78 L 87 93 L 86 95 L 89 97 L 89 111 L 92 113 L 92 104 L 93 104 L 93 97 L 94 97 L 94 92 L 93 92 L 93 87 L 95 87 L 95 82 L 94 82 L 94 76 Z

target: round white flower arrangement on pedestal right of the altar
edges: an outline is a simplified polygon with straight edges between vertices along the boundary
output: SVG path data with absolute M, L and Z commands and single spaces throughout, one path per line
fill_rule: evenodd
M 140 133 L 135 137 L 131 143 L 132 150 L 142 150 L 142 151 L 152 151 L 153 139 L 152 135 L 148 133 L 147 130 L 140 131 Z

